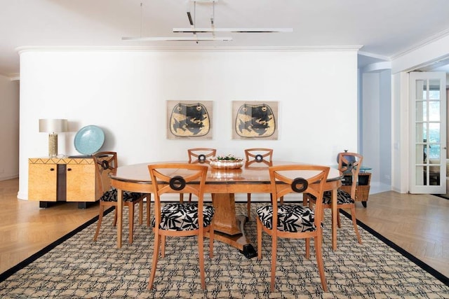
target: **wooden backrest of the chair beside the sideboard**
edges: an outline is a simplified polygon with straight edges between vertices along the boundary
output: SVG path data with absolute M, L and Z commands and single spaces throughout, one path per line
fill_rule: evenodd
M 117 153 L 114 151 L 102 151 L 92 155 L 95 162 L 95 184 L 100 188 L 95 188 L 98 193 L 97 198 L 103 195 L 111 188 L 111 178 L 109 172 L 115 172 L 117 169 Z

